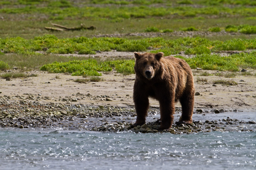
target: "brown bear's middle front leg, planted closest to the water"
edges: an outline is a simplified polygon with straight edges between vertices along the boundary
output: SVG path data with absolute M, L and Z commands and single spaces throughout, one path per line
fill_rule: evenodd
M 161 125 L 160 130 L 169 129 L 172 127 L 173 115 L 175 112 L 174 97 L 165 97 L 159 100 Z

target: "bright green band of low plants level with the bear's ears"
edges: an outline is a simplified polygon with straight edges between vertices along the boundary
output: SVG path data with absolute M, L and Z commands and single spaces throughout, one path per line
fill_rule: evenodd
M 0 39 L 0 49 L 4 53 L 25 55 L 42 55 L 36 51 L 47 49 L 51 54 L 96 54 L 97 50 L 111 51 L 147 51 L 148 47 L 157 48 L 153 52 L 162 51 L 166 55 L 178 54 L 210 54 L 221 50 L 256 49 L 256 39 L 231 39 L 227 41 L 210 41 L 201 37 L 184 37 L 165 40 L 161 37 L 129 40 L 125 38 L 63 38 L 58 39 L 51 34 L 37 36 L 34 39 L 20 37 Z M 3 55 L 0 55 L 0 60 Z

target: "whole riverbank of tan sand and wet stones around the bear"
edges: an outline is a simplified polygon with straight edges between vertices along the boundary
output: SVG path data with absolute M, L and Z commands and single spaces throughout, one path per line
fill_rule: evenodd
M 241 76 L 237 73 L 232 78 L 237 85 L 222 85 L 213 84 L 216 82 L 214 80 L 220 79 L 213 76 L 216 71 L 208 70 L 211 76 L 199 76 L 203 72 L 201 70 L 193 72 L 196 92 L 200 93 L 195 96 L 195 114 L 208 115 L 218 111 L 243 114 L 242 111 L 255 110 L 254 76 Z M 148 123 L 143 127 L 132 125 L 136 119 L 132 100 L 134 74 L 124 76 L 111 71 L 102 75 L 103 81 L 88 83 L 77 83 L 74 80 L 80 77 L 68 74 L 49 74 L 38 70 L 29 71 L 27 74 L 36 74 L 37 77 L 0 80 L 2 127 L 157 132 L 159 125 L 155 121 L 159 117 L 159 105 L 156 100 L 150 100 Z M 199 77 L 204 77 L 207 82 L 196 82 Z M 180 112 L 181 107 L 177 103 L 175 121 L 178 121 Z M 243 122 L 232 118 L 219 122 L 211 119 L 208 122 L 193 120 L 191 125 L 174 124 L 169 132 L 225 130 L 230 122 L 236 125 L 255 123 L 254 120 Z

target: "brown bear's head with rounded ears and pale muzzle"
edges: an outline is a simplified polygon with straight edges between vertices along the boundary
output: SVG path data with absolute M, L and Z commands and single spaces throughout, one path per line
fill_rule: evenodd
M 159 71 L 161 66 L 160 59 L 163 57 L 164 53 L 137 53 L 134 52 L 135 56 L 135 66 L 134 70 L 136 74 L 140 74 L 148 80 L 154 78 L 156 73 Z

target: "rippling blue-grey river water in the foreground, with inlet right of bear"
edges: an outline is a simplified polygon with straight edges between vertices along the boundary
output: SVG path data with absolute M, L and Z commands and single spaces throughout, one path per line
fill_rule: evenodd
M 255 113 L 195 114 L 193 119 Z M 253 131 L 190 134 L 0 129 L 0 169 L 256 169 Z

